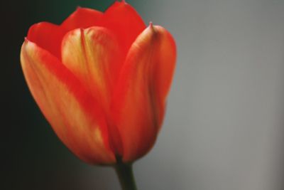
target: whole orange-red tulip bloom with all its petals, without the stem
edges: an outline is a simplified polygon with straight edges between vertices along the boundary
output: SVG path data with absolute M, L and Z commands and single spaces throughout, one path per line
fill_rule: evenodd
M 21 48 L 28 88 L 60 140 L 84 162 L 127 172 L 155 143 L 175 60 L 170 33 L 125 1 L 36 23 Z

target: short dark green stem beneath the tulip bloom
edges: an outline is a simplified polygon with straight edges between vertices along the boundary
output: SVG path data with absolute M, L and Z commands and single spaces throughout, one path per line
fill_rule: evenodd
M 119 182 L 121 189 L 123 190 L 136 190 L 135 179 L 133 176 L 132 163 L 121 162 L 118 159 L 116 165 L 114 165 L 117 176 L 119 176 Z

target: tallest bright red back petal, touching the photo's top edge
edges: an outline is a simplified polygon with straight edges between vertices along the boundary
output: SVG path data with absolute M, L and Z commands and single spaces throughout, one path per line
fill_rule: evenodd
M 104 12 L 101 24 L 115 33 L 124 56 L 136 37 L 146 28 L 136 10 L 125 1 L 112 4 Z

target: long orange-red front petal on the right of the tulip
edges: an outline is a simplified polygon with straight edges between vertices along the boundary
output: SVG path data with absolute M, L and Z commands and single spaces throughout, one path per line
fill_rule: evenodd
M 175 59 L 175 42 L 160 26 L 146 28 L 129 50 L 113 100 L 126 162 L 146 154 L 155 142 Z

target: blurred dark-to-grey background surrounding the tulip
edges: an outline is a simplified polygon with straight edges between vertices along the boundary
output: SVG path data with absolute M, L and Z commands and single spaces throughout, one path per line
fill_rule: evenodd
M 73 156 L 23 78 L 28 28 L 113 1 L 1 1 L 0 189 L 119 189 L 111 168 Z M 128 1 L 167 28 L 178 66 L 163 129 L 134 164 L 139 189 L 283 190 L 284 1 Z

